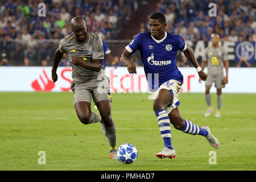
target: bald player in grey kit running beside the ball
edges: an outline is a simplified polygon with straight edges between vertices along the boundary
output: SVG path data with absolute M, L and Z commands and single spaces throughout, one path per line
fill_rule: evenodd
M 110 156 L 112 159 L 117 159 L 116 127 L 111 116 L 112 97 L 109 92 L 109 78 L 102 67 L 104 59 L 102 40 L 97 35 L 87 32 L 85 21 L 81 16 L 71 20 L 71 27 L 74 34 L 62 39 L 55 53 L 52 80 L 57 81 L 57 67 L 63 53 L 67 53 L 72 63 L 71 89 L 74 93 L 73 106 L 77 117 L 85 125 L 101 122 L 102 133 L 109 140 Z M 91 111 L 92 98 L 100 114 Z

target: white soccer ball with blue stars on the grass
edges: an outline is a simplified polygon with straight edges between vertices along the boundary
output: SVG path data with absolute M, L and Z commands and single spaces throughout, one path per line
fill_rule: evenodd
M 117 149 L 117 159 L 123 164 L 131 164 L 138 158 L 137 148 L 130 143 L 123 143 Z

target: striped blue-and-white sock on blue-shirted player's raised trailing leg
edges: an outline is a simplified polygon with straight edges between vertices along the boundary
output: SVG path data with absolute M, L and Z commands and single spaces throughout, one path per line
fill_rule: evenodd
M 207 136 L 208 131 L 205 129 L 202 129 L 200 126 L 195 125 L 191 121 L 184 119 L 185 126 L 182 129 L 184 133 L 192 134 L 192 135 L 203 135 Z

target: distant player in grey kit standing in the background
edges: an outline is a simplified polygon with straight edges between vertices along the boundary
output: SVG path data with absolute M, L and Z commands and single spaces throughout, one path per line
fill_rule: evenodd
M 210 100 L 210 88 L 213 82 L 215 82 L 217 88 L 217 111 L 215 117 L 220 117 L 220 109 L 222 105 L 222 85 L 228 83 L 228 53 L 226 53 L 223 47 L 218 45 L 219 40 L 220 36 L 218 34 L 211 35 L 212 46 L 209 46 L 205 49 L 203 61 L 201 63 L 201 69 L 204 70 L 206 64 L 208 67 L 208 77 L 205 81 L 205 100 L 208 105 L 208 110 L 205 113 L 205 117 L 208 117 L 211 113 L 213 113 L 213 108 Z M 223 71 L 224 67 L 226 70 L 225 77 Z M 199 81 L 201 81 L 201 78 L 199 78 Z

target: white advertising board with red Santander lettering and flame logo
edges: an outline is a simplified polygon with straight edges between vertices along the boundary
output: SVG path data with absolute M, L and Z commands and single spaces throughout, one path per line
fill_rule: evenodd
M 181 92 L 205 92 L 205 83 L 199 83 L 195 68 L 179 68 L 179 70 L 184 77 Z M 58 80 L 54 83 L 51 80 L 51 67 L 0 67 L 0 91 L 71 92 L 71 73 L 71 67 L 59 67 L 57 69 Z M 106 67 L 105 73 L 109 77 L 112 93 L 149 92 L 143 67 L 137 68 L 137 75 L 130 75 L 126 67 L 116 69 Z M 255 81 L 256 68 L 229 68 L 229 83 L 222 89 L 222 92 L 256 93 L 256 85 L 251 84 Z M 211 92 L 216 92 L 214 85 Z

